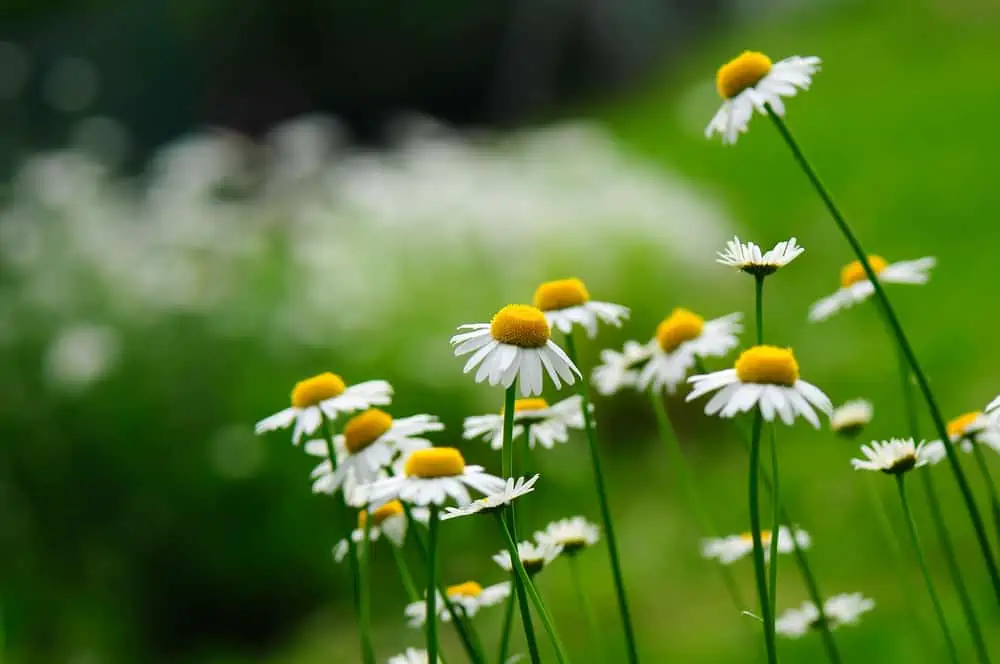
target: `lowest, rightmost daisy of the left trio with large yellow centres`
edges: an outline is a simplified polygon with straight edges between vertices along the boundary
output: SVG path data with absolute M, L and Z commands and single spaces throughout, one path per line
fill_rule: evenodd
M 469 489 L 490 495 L 506 484 L 482 466 L 467 466 L 462 453 L 453 447 L 415 450 L 406 457 L 402 471 L 360 487 L 359 500 L 377 506 L 398 499 L 426 506 L 441 505 L 450 497 L 461 506 L 472 502 Z

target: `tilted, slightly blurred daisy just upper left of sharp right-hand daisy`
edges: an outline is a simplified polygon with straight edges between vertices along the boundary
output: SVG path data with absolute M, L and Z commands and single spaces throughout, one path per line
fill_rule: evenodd
M 719 357 L 739 345 L 743 314 L 734 313 L 710 320 L 687 309 L 677 308 L 656 327 L 649 342 L 652 354 L 639 372 L 636 386 L 673 394 L 700 357 Z

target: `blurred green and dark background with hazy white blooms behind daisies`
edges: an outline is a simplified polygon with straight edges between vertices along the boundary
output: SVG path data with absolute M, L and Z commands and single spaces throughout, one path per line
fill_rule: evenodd
M 734 233 L 767 246 L 796 236 L 807 251 L 768 283 L 768 335 L 794 346 L 835 402 L 871 399 L 870 437 L 901 434 L 873 308 L 806 322 L 851 256 L 778 137 L 760 118 L 734 147 L 702 136 L 715 69 L 745 48 L 823 58 L 789 125 L 870 251 L 938 257 L 929 285 L 890 295 L 946 414 L 1000 391 L 995 3 L 636 0 L 577 14 L 442 1 L 412 16 L 402 3 L 328 4 L 3 8 L 6 661 L 358 661 L 347 569 L 330 556 L 338 527 L 310 493 L 311 463 L 284 434 L 255 438 L 253 423 L 302 377 L 384 378 L 394 414 L 439 415 L 439 443 L 499 470 L 495 453 L 459 437 L 464 416 L 502 397 L 461 374 L 447 339 L 542 280 L 579 276 L 596 299 L 633 308 L 623 330 L 586 344 L 589 367 L 601 348 L 648 339 L 674 306 L 749 313 L 751 283 L 714 252 Z M 305 25 L 311 39 L 299 40 Z M 290 120 L 307 112 L 323 115 Z M 232 130 L 195 131 L 205 125 Z M 720 527 L 745 530 L 745 456 L 699 405 L 671 400 L 676 428 Z M 756 623 L 699 557 L 647 400 L 601 399 L 597 414 L 644 661 L 762 661 Z M 855 445 L 804 424 L 780 444 L 824 592 L 877 602 L 837 632 L 845 661 L 943 661 L 917 567 L 904 546 L 900 569 L 872 508 L 868 480 L 898 516 L 889 480 L 856 475 Z M 596 520 L 584 445 L 534 456 L 530 526 Z M 1000 653 L 968 519 L 947 471 L 933 472 Z M 489 525 L 445 525 L 447 580 L 501 580 Z M 603 549 L 583 562 L 617 645 Z M 782 562 L 787 608 L 805 596 Z M 750 596 L 749 562 L 736 572 Z M 385 549 L 374 578 L 386 659 L 422 637 L 404 624 Z M 601 661 L 567 570 L 539 585 L 574 661 Z M 501 614 L 477 618 L 490 649 Z M 781 649 L 786 662 L 822 657 L 813 637 Z

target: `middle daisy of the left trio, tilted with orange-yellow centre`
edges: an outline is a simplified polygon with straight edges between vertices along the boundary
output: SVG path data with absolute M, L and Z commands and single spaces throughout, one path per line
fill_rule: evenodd
M 327 459 L 313 471 L 314 478 L 324 481 L 327 493 L 345 484 L 352 493 L 354 483 L 368 484 L 378 472 L 388 467 L 397 455 L 431 446 L 421 435 L 442 431 L 444 425 L 434 415 L 412 415 L 393 419 L 378 408 L 369 408 L 344 424 L 344 432 L 334 438 L 337 467 Z M 310 451 L 307 448 L 306 451 Z M 324 451 L 323 456 L 326 456 Z

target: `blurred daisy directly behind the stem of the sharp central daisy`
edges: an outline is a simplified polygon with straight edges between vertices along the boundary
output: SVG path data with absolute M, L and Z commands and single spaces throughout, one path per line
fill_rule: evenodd
M 569 440 L 570 429 L 583 429 L 583 412 L 579 395 L 573 395 L 551 406 L 545 399 L 517 399 L 514 402 L 513 440 L 529 430 L 528 445 L 531 449 L 541 445 L 552 449 L 556 443 Z M 529 426 L 530 425 L 530 426 Z M 466 440 L 482 438 L 495 450 L 503 448 L 503 413 L 498 415 L 473 415 L 465 418 Z

